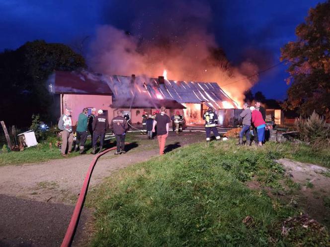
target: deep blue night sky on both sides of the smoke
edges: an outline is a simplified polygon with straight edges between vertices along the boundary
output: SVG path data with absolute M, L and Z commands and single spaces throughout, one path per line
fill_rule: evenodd
M 170 0 L 0 0 L 0 51 L 16 49 L 26 41 L 43 39 L 74 46 L 92 39 L 97 26 L 110 24 L 135 35 L 138 20 L 167 18 Z M 204 0 L 210 6 L 208 32 L 233 63 L 257 62 L 260 69 L 277 64 L 280 48 L 294 41 L 295 27 L 318 0 Z M 158 11 L 162 9 L 162 11 Z M 176 11 L 182 12 L 184 9 Z M 198 9 L 196 9 L 198 11 Z M 267 98 L 285 99 L 286 66 L 260 74 L 252 91 Z

